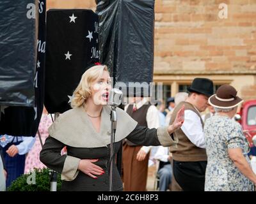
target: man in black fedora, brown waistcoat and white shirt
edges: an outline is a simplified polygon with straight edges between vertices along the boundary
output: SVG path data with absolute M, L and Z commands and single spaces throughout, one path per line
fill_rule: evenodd
M 184 105 L 184 124 L 174 132 L 179 143 L 177 148 L 170 147 L 173 175 L 184 191 L 204 191 L 207 155 L 204 122 L 200 112 L 204 112 L 208 106 L 208 98 L 213 94 L 213 83 L 208 78 L 195 78 L 188 91 L 188 99 L 175 107 L 170 120 L 172 123 Z

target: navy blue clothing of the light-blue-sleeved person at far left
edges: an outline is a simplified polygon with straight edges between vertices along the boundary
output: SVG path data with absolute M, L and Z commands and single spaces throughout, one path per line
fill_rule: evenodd
M 3 148 L 3 156 L 7 170 L 6 187 L 9 187 L 13 180 L 24 174 L 26 155 L 16 154 L 14 157 L 10 157 L 6 153 L 6 150 L 8 150 L 11 145 L 19 145 L 19 143 L 20 142 L 8 143 L 8 145 Z

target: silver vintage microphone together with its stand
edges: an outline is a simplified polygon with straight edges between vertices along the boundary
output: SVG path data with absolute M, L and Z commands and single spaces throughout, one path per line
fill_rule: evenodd
M 122 102 L 123 92 L 119 89 L 111 89 L 109 93 L 109 105 L 111 106 L 110 120 L 111 120 L 111 142 L 110 142 L 110 170 L 109 170 L 109 191 L 113 187 L 113 158 L 114 158 L 114 143 L 116 133 L 116 107 Z

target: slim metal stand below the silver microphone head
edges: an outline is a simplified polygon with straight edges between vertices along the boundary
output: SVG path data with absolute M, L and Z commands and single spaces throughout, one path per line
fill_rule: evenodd
M 110 113 L 111 120 L 111 142 L 110 142 L 110 170 L 109 170 L 109 191 L 112 191 L 113 187 L 113 157 L 114 157 L 114 142 L 116 133 L 116 107 L 111 106 Z

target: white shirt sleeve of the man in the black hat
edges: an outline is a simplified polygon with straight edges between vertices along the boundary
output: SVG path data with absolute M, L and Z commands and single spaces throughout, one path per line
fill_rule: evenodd
M 206 148 L 202 123 L 200 117 L 195 112 L 185 110 L 184 123 L 181 129 L 196 147 Z

